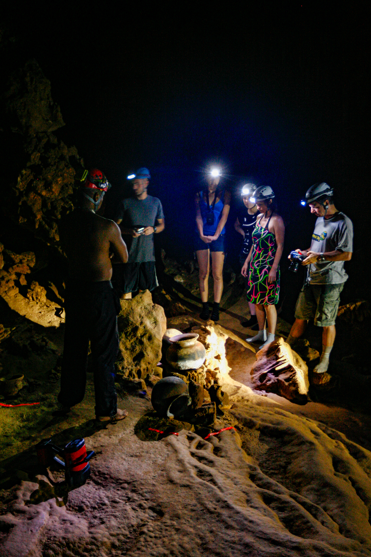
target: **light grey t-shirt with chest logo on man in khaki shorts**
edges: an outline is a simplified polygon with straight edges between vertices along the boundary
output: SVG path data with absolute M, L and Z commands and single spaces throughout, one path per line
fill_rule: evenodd
M 317 253 L 353 251 L 353 224 L 344 213 L 325 219 L 318 217 L 311 237 L 310 250 Z M 348 278 L 344 261 L 324 261 L 309 266 L 310 284 L 340 284 Z

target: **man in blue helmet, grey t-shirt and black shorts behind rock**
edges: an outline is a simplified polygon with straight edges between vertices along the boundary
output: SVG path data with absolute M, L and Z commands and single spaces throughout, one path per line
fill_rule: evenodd
M 129 252 L 118 280 L 122 299 L 131 298 L 131 293 L 136 290 L 152 291 L 159 286 L 153 234 L 164 230 L 165 221 L 160 199 L 147 194 L 150 178 L 147 168 L 139 168 L 128 176 L 133 197 L 122 199 L 116 219 Z

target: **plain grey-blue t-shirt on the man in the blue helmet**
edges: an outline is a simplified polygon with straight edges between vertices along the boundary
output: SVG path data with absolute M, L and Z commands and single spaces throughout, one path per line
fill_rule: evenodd
M 134 226 L 156 226 L 158 219 L 164 218 L 160 199 L 147 196 L 145 199 L 131 197 L 122 199 L 118 209 L 117 220 L 122 219 L 123 228 Z M 155 261 L 154 234 L 133 238 L 125 234 L 123 240 L 127 245 L 128 263 Z

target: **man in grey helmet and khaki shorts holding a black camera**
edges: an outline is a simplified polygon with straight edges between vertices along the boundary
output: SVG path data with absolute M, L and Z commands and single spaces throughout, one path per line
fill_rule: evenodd
M 352 258 L 353 224 L 333 202 L 333 188 L 325 182 L 314 184 L 305 194 L 310 212 L 317 216 L 308 250 L 295 250 L 309 265 L 308 275 L 295 307 L 295 323 L 286 342 L 292 344 L 306 328 L 309 319 L 323 327 L 322 354 L 314 368 L 314 383 L 327 383 L 329 355 L 335 340 L 335 319 L 340 292 L 348 275 L 344 261 Z M 290 256 L 289 256 L 290 258 Z

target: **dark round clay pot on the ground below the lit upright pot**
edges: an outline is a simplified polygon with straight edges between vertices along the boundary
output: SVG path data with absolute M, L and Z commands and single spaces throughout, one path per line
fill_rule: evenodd
M 151 403 L 164 418 L 176 418 L 191 404 L 187 384 L 179 377 L 160 379 L 151 394 Z

